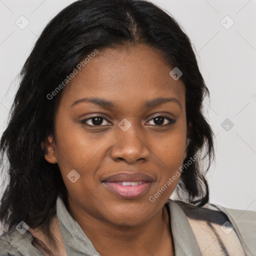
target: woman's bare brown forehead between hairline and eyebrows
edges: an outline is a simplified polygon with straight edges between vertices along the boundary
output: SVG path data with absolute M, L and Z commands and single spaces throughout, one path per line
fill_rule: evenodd
M 98 49 L 93 55 L 67 83 L 62 100 L 98 96 L 125 103 L 131 97 L 137 102 L 172 96 L 184 103 L 184 84 L 169 75 L 172 67 L 159 50 L 145 44 L 124 44 Z

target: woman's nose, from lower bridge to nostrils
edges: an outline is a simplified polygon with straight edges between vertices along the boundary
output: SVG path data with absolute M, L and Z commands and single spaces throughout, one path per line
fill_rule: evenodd
M 111 148 L 111 158 L 113 160 L 132 164 L 149 159 L 150 150 L 147 139 L 133 127 L 134 125 L 131 125 L 126 131 L 121 129 L 117 131 L 113 138 L 114 145 Z

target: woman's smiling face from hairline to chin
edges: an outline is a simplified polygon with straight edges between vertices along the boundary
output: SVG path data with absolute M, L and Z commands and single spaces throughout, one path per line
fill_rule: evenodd
M 157 50 L 125 44 L 99 49 L 65 85 L 51 160 L 71 211 L 137 225 L 167 201 L 186 144 L 185 89 L 171 69 Z

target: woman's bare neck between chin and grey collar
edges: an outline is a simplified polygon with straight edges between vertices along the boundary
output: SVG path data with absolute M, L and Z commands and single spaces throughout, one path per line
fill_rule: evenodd
M 102 256 L 120 255 L 120 252 L 123 256 L 174 255 L 169 215 L 165 206 L 149 220 L 136 226 L 115 225 L 69 207 L 68 211 Z

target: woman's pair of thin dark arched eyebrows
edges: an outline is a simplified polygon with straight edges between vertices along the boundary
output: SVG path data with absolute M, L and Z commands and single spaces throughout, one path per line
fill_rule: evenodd
M 88 97 L 88 98 L 80 98 L 75 100 L 72 104 L 71 107 L 74 105 L 77 105 L 81 102 L 88 102 L 88 103 L 93 103 L 93 104 L 97 104 L 101 107 L 105 107 L 105 108 L 113 108 L 116 107 L 117 104 L 115 102 L 109 101 L 107 99 L 104 98 L 93 98 L 93 97 Z M 158 97 L 158 98 L 153 98 L 153 99 L 149 99 L 149 100 L 145 100 L 142 102 L 143 106 L 146 108 L 151 108 L 166 102 L 176 102 L 180 109 L 181 109 L 181 104 L 178 101 L 177 98 L 173 98 L 173 97 Z

